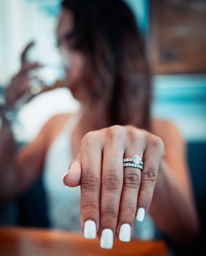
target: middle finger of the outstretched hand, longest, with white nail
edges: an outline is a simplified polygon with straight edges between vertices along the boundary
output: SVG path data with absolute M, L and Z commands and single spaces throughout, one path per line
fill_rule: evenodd
M 102 160 L 100 228 L 98 232 L 102 248 L 112 248 L 113 246 L 123 186 L 122 127 L 116 128 L 116 126 L 111 127 L 107 131 L 110 140 L 105 144 Z

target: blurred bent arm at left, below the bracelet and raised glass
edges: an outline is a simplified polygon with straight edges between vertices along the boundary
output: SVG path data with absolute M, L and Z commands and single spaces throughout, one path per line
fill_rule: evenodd
M 0 202 L 18 196 L 41 174 L 47 127 L 44 126 L 33 142 L 18 150 L 10 123 L 3 121 L 0 128 Z

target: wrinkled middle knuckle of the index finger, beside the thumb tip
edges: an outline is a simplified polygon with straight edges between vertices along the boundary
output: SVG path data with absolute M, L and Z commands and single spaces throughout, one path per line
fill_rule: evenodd
M 100 180 L 92 173 L 82 173 L 81 187 L 86 190 L 94 190 L 98 188 Z

